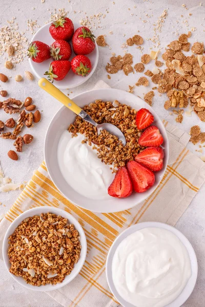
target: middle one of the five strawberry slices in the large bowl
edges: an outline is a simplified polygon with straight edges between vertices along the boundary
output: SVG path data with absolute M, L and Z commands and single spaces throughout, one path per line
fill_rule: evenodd
M 161 147 L 148 147 L 135 157 L 135 161 L 147 166 L 152 171 L 159 171 L 163 167 L 163 149 Z

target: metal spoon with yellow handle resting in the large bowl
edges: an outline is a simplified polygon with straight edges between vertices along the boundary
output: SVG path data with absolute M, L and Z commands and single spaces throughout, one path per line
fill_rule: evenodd
M 122 144 L 126 145 L 126 138 L 124 134 L 113 124 L 103 123 L 97 124 L 81 107 L 75 104 L 70 98 L 68 98 L 63 92 L 57 89 L 55 85 L 53 85 L 50 81 L 45 78 L 41 78 L 38 80 L 38 85 L 46 91 L 48 94 L 56 98 L 58 101 L 63 103 L 66 107 L 68 107 L 71 111 L 81 117 L 83 120 L 91 123 L 93 126 L 97 128 L 97 134 L 99 135 L 102 130 L 107 130 L 110 134 L 116 136 Z

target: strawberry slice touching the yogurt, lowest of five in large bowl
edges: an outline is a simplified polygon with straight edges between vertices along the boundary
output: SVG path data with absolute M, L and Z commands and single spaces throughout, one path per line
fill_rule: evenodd
M 108 188 L 108 194 L 117 198 L 126 198 L 132 194 L 132 182 L 125 166 L 119 168 Z

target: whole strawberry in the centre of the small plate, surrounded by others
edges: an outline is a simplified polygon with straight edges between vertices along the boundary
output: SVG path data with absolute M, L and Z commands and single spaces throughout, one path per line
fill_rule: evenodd
M 51 56 L 55 60 L 69 60 L 72 50 L 70 43 L 63 39 L 54 41 L 50 48 Z

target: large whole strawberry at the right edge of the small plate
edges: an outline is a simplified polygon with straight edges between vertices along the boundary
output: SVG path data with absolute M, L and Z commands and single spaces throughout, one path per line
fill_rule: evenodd
M 72 38 L 74 53 L 84 55 L 91 53 L 95 49 L 94 37 L 88 28 L 77 28 Z

